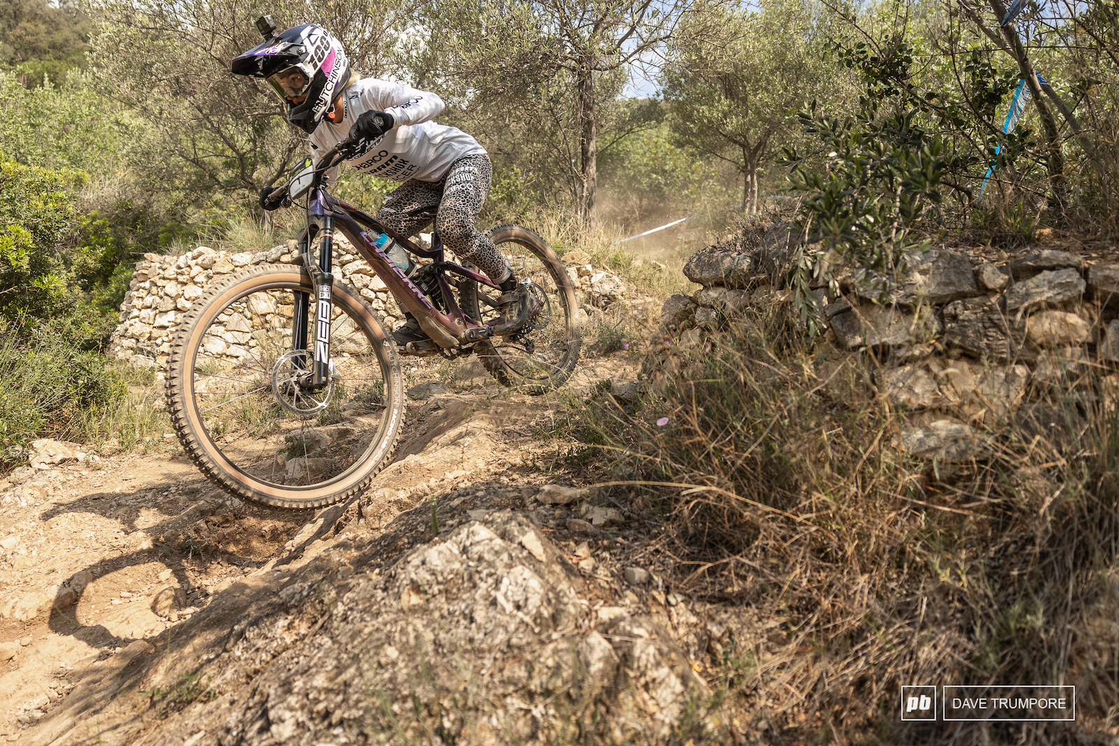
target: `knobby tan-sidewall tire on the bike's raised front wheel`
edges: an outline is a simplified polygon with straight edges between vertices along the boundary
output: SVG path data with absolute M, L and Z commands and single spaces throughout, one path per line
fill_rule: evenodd
M 203 426 L 194 397 L 194 360 L 199 340 L 214 317 L 237 295 L 274 283 L 302 286 L 312 292 L 309 276 L 298 267 L 253 267 L 231 275 L 198 299 L 187 311 L 171 343 L 167 363 L 167 405 L 179 442 L 195 464 L 225 491 L 245 500 L 280 508 L 317 508 L 338 502 L 364 489 L 380 469 L 391 463 L 404 422 L 404 380 L 396 347 L 385 334 L 380 320 L 352 287 L 333 284 L 335 303 L 346 306 L 348 315 L 377 346 L 378 362 L 385 376 L 385 416 L 378 425 L 372 450 L 359 463 L 335 480 L 313 488 L 284 488 L 245 474 L 231 463 Z M 385 370 L 387 368 L 387 370 Z

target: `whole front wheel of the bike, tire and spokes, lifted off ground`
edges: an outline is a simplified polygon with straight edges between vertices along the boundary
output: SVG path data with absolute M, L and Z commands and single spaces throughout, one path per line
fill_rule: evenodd
M 227 492 L 282 508 L 350 497 L 387 464 L 404 417 L 393 343 L 357 291 L 335 283 L 332 375 L 310 386 L 310 352 L 293 350 L 299 267 L 254 267 L 210 287 L 171 347 L 171 422 L 198 468 Z M 311 331 L 310 337 L 314 336 Z

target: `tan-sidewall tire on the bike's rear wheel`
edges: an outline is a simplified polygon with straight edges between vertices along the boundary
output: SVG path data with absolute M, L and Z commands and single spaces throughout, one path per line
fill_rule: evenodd
M 579 362 L 579 350 L 583 339 L 583 332 L 579 328 L 579 324 L 575 323 L 575 312 L 579 308 L 575 301 L 575 286 L 572 284 L 571 277 L 567 276 L 564 263 L 552 251 L 548 242 L 544 240 L 536 232 L 529 230 L 524 226 L 511 224 L 496 225 L 486 232 L 486 237 L 498 245 L 498 247 L 504 243 L 516 243 L 521 246 L 532 247 L 537 258 L 552 270 L 552 280 L 556 283 L 557 287 L 563 290 L 567 305 L 567 339 L 570 340 L 571 353 L 564 367 L 555 375 L 549 376 L 546 381 L 524 380 L 505 361 L 500 349 L 493 347 L 488 341 L 474 344 L 474 352 L 478 355 L 478 359 L 481 361 L 482 367 L 502 385 L 516 388 L 526 394 L 539 395 L 563 386 L 571 378 L 571 374 L 575 370 L 575 365 Z

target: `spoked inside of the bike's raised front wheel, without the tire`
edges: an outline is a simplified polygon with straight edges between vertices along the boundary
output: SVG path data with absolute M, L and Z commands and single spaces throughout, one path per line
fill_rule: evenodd
M 286 352 L 292 317 L 281 314 L 282 328 L 275 321 L 285 305 L 293 310 L 282 302 L 283 294 L 293 296 L 286 289 L 262 289 L 213 314 L 198 342 L 194 396 L 209 440 L 226 461 L 263 482 L 310 487 L 338 478 L 359 461 L 355 448 L 377 427 L 377 413 L 384 409 L 377 400 L 377 391 L 385 389 L 384 371 L 375 340 L 336 304 L 331 349 L 349 351 L 333 357 L 338 380 L 320 390 L 301 388 L 309 365 Z M 316 311 L 312 304 L 310 329 Z M 281 362 L 284 358 L 290 362 Z M 210 390 L 213 384 L 218 386 Z

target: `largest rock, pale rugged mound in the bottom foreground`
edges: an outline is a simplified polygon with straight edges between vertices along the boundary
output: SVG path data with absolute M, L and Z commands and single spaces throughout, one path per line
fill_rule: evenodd
M 138 662 L 137 688 L 175 686 L 189 665 L 217 695 L 177 714 L 160 743 L 714 740 L 720 716 L 669 631 L 624 607 L 596 612 L 524 518 L 491 513 L 384 561 L 398 545 L 370 542 L 345 564 L 328 550 L 253 603 L 211 604 L 188 623 L 189 646 Z M 219 625 L 217 613 L 237 616 Z M 63 736 L 65 715 L 40 730 Z

